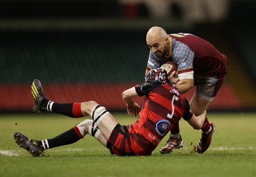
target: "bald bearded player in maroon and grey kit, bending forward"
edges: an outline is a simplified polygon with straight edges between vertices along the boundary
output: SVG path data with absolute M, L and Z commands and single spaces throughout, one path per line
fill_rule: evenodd
M 227 75 L 227 57 L 198 36 L 189 33 L 167 34 L 158 26 L 148 30 L 146 41 L 150 48 L 146 74 L 152 68 L 173 61 L 177 65 L 179 78 L 175 78 L 175 73 L 172 73 L 170 80 L 177 84 L 180 93 L 186 93 L 196 86 L 189 105 L 195 115 L 207 110 Z M 198 153 L 204 153 L 211 145 L 215 125 L 205 117 L 201 130 L 202 135 L 196 148 Z M 183 140 L 178 123 L 160 153 L 170 153 L 180 147 L 183 147 Z

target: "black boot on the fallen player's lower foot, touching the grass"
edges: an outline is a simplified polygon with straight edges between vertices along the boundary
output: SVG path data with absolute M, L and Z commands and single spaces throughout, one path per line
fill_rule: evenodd
M 20 132 L 14 132 L 13 137 L 15 142 L 20 146 L 20 148 L 24 148 L 27 150 L 32 156 L 39 156 L 43 153 L 44 147 L 40 146 L 40 141 L 35 139 L 30 139 Z

